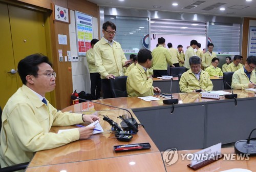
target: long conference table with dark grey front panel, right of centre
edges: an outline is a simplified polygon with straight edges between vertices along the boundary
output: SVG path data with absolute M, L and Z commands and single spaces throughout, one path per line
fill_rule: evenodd
M 230 90 L 224 90 L 231 92 Z M 95 100 L 96 102 L 132 109 L 140 123 L 160 151 L 168 148 L 200 149 L 247 139 L 256 128 L 254 92 L 234 90 L 234 99 L 202 98 L 200 93 L 176 93 L 178 104 L 163 104 L 160 100 L 144 101 L 137 97 L 121 97 Z M 97 104 L 95 109 L 97 110 Z M 102 107 L 102 106 L 101 106 Z M 111 107 L 105 106 L 105 110 Z M 172 112 L 173 111 L 173 112 Z M 256 137 L 253 133 L 252 137 Z

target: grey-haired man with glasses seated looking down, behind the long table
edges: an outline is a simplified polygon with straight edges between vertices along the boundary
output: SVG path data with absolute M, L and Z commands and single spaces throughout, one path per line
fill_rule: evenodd
M 188 62 L 190 69 L 182 74 L 179 82 L 181 92 L 212 91 L 214 85 L 209 74 L 201 70 L 200 57 L 192 56 Z

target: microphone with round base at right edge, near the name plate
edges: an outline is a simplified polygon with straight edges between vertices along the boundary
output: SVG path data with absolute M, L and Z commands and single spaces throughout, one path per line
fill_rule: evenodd
M 236 153 L 256 155 L 256 140 L 250 140 L 254 130 L 256 130 L 256 128 L 251 131 L 247 140 L 240 140 L 234 144 L 234 151 Z

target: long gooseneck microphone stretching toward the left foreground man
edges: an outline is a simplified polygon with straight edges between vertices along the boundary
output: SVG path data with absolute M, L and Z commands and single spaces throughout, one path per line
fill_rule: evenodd
M 109 104 L 104 104 L 104 103 L 99 103 L 99 102 L 95 102 L 95 101 L 91 101 L 91 100 L 87 100 L 87 99 L 82 99 L 82 98 L 79 98 L 79 97 L 76 97 L 74 95 L 71 96 L 71 99 L 72 100 L 75 100 L 75 99 L 78 99 L 78 100 L 82 100 L 82 101 L 89 101 L 89 102 L 93 102 L 93 103 L 96 103 L 96 104 L 101 104 L 101 105 L 105 105 L 105 106 L 109 106 L 109 107 L 114 107 L 116 109 L 120 109 L 120 110 L 124 110 L 124 111 L 127 111 L 130 115 L 131 115 L 131 118 L 128 118 L 126 119 L 128 122 L 131 123 L 131 125 L 133 125 L 134 127 L 138 128 L 138 122 L 136 121 L 136 119 L 133 117 L 132 113 L 130 111 L 128 111 L 127 109 L 123 109 L 121 107 L 117 107 L 117 106 L 113 106 L 113 105 L 109 105 Z M 104 118 L 103 118 L 104 120 Z M 108 121 L 107 121 L 108 122 Z M 109 122 L 110 123 L 110 122 Z M 111 124 L 111 123 L 110 123 Z M 120 122 L 122 128 L 124 130 L 129 130 L 130 129 L 130 126 L 128 126 L 124 121 Z M 112 124 L 111 124 L 112 125 Z M 129 124 L 130 125 L 130 124 Z

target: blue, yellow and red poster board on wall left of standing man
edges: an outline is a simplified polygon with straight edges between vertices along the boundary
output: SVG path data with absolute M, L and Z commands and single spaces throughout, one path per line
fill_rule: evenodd
M 85 56 L 93 39 L 93 17 L 75 11 L 78 56 Z

